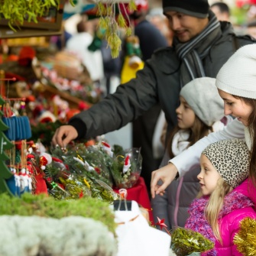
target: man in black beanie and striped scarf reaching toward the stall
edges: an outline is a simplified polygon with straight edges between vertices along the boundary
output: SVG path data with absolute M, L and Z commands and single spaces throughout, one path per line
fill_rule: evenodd
M 136 79 L 58 128 L 53 144 L 66 147 L 73 139 L 122 128 L 157 103 L 166 115 L 168 134 L 177 123 L 182 86 L 196 77 L 215 77 L 237 47 L 255 43 L 251 37 L 236 37 L 232 24 L 219 22 L 207 0 L 163 0 L 163 9 L 173 31 L 173 46 L 157 50 Z

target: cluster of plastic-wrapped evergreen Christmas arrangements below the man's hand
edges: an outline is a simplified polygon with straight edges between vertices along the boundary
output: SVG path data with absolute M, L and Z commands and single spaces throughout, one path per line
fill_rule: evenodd
M 92 144 L 69 144 L 66 151 L 56 147 L 51 157 L 51 163 L 45 160 L 44 165 L 38 160 L 38 164 L 46 167 L 48 193 L 57 199 L 93 197 L 112 203 L 118 198 L 113 188 L 134 186 L 141 173 L 138 149 L 124 151 L 116 145 L 112 149 L 101 139 Z

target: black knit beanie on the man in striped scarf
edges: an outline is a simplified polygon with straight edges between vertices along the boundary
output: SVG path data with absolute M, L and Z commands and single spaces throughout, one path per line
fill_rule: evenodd
M 197 18 L 208 17 L 208 0 L 163 0 L 164 13 L 178 11 Z

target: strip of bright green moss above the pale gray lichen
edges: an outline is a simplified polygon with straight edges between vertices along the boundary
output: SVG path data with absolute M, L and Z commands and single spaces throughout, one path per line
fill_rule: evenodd
M 26 193 L 21 198 L 0 194 L 0 215 L 39 215 L 61 219 L 70 215 L 80 215 L 104 223 L 109 231 L 115 232 L 114 213 L 109 203 L 94 198 L 77 200 L 56 200 L 50 196 L 34 196 Z

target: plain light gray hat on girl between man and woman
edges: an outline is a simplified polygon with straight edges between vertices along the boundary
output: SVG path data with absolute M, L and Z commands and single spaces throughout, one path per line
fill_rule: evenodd
M 180 91 L 193 112 L 208 126 L 224 116 L 224 102 L 215 86 L 215 78 L 200 77 L 187 83 Z

